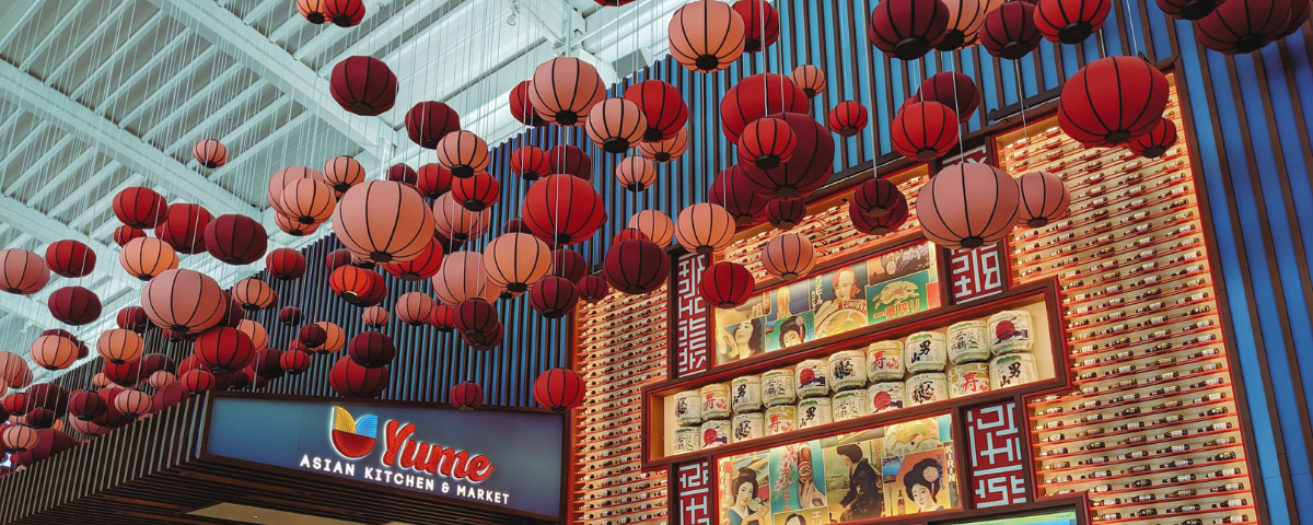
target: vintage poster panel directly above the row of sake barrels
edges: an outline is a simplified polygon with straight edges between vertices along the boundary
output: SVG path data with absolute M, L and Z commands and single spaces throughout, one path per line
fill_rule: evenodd
M 716 364 L 937 308 L 935 251 L 922 242 L 765 290 L 716 310 Z

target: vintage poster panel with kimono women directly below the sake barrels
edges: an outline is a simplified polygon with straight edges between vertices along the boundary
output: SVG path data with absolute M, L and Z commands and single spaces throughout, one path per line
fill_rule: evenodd
M 960 508 L 952 416 L 717 461 L 718 522 L 844 524 Z

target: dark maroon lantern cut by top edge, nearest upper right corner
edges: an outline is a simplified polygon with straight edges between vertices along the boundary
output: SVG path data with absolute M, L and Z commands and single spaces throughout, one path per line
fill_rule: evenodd
M 1199 43 L 1234 55 L 1258 51 L 1285 32 L 1292 0 L 1226 0 L 1195 22 Z M 1304 0 L 1293 0 L 1304 1 Z

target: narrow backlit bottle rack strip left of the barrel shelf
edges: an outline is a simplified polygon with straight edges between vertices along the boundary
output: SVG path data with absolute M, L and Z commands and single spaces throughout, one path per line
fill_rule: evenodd
M 571 522 L 653 524 L 667 518 L 664 470 L 643 472 L 643 383 L 666 378 L 667 291 L 612 291 L 576 310 L 576 370 L 587 395 L 574 421 Z

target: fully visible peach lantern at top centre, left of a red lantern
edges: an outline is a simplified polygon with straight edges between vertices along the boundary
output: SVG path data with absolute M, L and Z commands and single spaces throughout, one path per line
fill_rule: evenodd
M 675 10 L 667 28 L 670 54 L 685 68 L 721 71 L 743 55 L 743 17 L 720 0 L 696 0 Z

